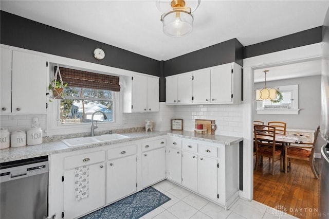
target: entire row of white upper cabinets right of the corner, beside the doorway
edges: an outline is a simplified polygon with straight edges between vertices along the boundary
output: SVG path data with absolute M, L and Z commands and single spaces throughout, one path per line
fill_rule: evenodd
M 241 103 L 242 67 L 236 63 L 170 76 L 166 80 L 167 104 Z

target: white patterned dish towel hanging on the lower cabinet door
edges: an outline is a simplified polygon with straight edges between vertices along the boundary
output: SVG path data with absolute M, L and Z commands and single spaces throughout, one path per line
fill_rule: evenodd
M 89 167 L 82 166 L 74 170 L 76 200 L 89 196 Z

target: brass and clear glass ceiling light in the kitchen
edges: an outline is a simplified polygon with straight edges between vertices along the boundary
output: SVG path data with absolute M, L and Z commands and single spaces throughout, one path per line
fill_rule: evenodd
M 185 36 L 193 30 L 193 15 L 200 0 L 158 0 L 157 7 L 163 13 L 163 32 L 169 36 Z

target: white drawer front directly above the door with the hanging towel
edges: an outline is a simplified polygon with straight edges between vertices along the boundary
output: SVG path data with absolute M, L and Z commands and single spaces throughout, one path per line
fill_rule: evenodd
M 81 167 L 84 165 L 91 165 L 93 163 L 102 162 L 105 160 L 104 151 L 97 151 L 93 153 L 80 154 L 64 158 L 64 169 L 71 169 Z

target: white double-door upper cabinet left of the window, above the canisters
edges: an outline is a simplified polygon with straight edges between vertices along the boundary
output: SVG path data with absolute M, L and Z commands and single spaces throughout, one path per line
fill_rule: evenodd
M 1 114 L 45 114 L 46 58 L 1 48 Z

